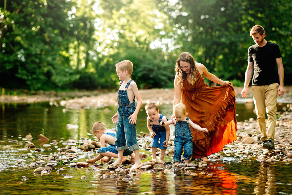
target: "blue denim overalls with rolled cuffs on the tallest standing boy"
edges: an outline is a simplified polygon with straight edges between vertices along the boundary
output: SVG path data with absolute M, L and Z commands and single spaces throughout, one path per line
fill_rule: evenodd
M 127 82 L 125 89 L 119 89 L 118 92 L 119 118 L 117 122 L 116 139 L 114 142 L 117 146 L 117 150 L 126 150 L 129 148 L 130 151 L 134 151 L 139 149 L 139 144 L 136 138 L 136 124 L 131 125 L 131 123 L 129 123 L 130 119 L 128 119 L 136 109 L 135 97 L 133 102 L 130 103 L 127 94 L 127 89 L 132 81 L 133 80 Z M 123 81 L 120 82 L 119 87 L 121 87 L 122 83 Z

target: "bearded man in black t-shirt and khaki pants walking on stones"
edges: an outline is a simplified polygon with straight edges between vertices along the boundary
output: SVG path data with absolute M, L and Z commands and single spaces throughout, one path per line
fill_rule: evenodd
M 257 121 L 262 134 L 260 139 L 263 142 L 264 149 L 274 149 L 277 95 L 284 94 L 282 56 L 277 44 L 265 40 L 265 30 L 262 26 L 253 26 L 249 35 L 253 37 L 256 44 L 248 48 L 248 65 L 241 96 L 247 97 L 247 87 L 251 78 L 253 78 L 251 88 Z M 268 115 L 267 130 L 266 111 Z

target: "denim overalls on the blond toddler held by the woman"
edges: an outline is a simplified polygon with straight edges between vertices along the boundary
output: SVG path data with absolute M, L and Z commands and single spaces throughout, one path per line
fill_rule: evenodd
M 184 149 L 183 158 L 190 160 L 193 153 L 193 136 L 191 128 L 187 121 L 190 118 L 187 117 L 186 121 L 176 121 L 174 129 L 174 161 L 181 161 L 182 149 Z

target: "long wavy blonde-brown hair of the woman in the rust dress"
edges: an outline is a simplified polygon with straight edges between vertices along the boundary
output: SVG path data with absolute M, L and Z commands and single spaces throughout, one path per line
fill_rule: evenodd
M 192 54 L 190 54 L 189 52 L 183 52 L 180 54 L 180 56 L 178 57 L 176 61 L 175 72 L 177 73 L 177 79 L 179 83 L 183 82 L 183 80 L 187 78 L 187 73 L 185 73 L 180 68 L 180 61 L 188 62 L 191 64 L 190 79 L 191 79 L 191 84 L 194 84 L 197 80 L 197 68 L 196 68 L 196 61 L 194 60 Z

